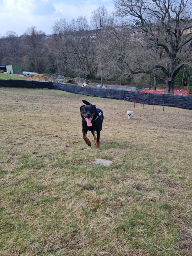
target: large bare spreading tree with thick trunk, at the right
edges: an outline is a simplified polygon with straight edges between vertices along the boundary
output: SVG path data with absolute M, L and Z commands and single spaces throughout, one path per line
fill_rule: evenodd
M 142 32 L 142 47 L 148 61 L 127 63 L 133 74 L 153 74 L 173 92 L 179 70 L 192 65 L 191 0 L 115 0 L 116 14 L 125 18 L 132 30 Z M 154 63 L 154 50 L 158 58 Z M 144 63 L 144 65 L 143 65 Z M 164 76 L 158 75 L 158 71 Z M 161 73 L 161 74 L 162 74 Z

